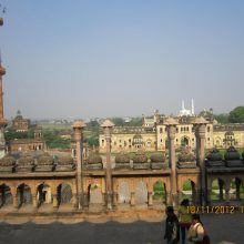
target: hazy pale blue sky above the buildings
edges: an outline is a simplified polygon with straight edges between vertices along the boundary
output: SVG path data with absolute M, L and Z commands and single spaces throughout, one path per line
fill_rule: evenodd
M 0 0 L 4 114 L 227 113 L 244 105 L 243 0 Z

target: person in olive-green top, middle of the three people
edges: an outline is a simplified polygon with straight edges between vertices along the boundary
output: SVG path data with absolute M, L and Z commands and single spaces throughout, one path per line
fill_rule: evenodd
M 192 224 L 192 214 L 189 212 L 189 200 L 184 199 L 177 211 L 181 231 L 181 244 L 185 244 L 185 234 Z

